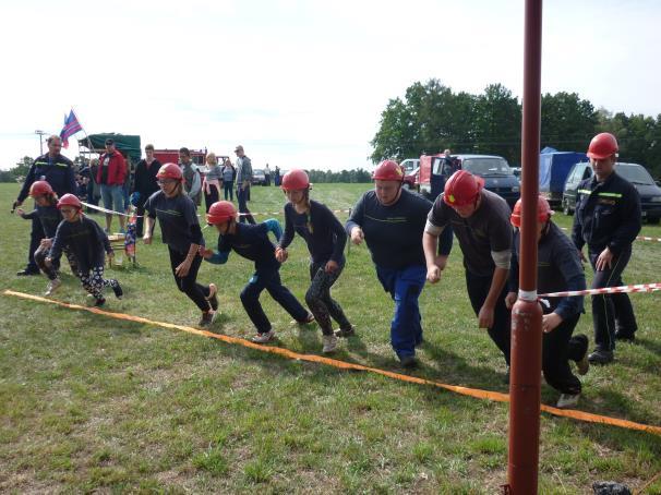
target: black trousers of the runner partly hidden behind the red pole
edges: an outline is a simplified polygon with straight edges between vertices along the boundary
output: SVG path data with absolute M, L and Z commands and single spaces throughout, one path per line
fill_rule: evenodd
M 585 339 L 572 337 L 580 313 L 563 321 L 542 337 L 542 372 L 544 379 L 562 394 L 580 394 L 580 381 L 572 373 L 569 360 L 580 361 L 588 351 Z

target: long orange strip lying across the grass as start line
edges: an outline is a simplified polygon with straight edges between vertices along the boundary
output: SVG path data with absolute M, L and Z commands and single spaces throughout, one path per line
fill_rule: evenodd
M 491 391 L 491 390 L 481 390 L 478 388 L 468 388 L 460 387 L 457 385 L 447 385 L 442 384 L 440 382 L 433 382 L 431 379 L 418 378 L 416 376 L 402 375 L 400 373 L 393 373 L 385 370 L 380 370 L 377 367 L 363 366 L 362 364 L 348 363 L 346 361 L 339 361 L 336 359 L 324 358 L 316 354 L 300 354 L 298 352 L 290 351 L 289 349 L 284 349 L 280 347 L 272 347 L 272 346 L 263 346 L 260 343 L 251 342 L 250 340 L 241 339 L 239 337 L 230 337 L 228 335 L 218 335 L 213 331 L 200 330 L 197 328 L 188 327 L 184 325 L 175 325 L 172 323 L 164 323 L 164 322 L 155 322 L 153 319 L 143 318 L 141 316 L 133 316 L 124 313 L 112 313 L 109 311 L 99 310 L 98 307 L 87 307 L 81 306 L 79 304 L 70 304 L 61 301 L 56 301 L 52 299 L 46 299 L 38 295 L 26 294 L 23 292 L 15 292 L 13 290 L 5 290 L 4 295 L 14 295 L 16 298 L 28 299 L 31 301 L 45 302 L 49 304 L 56 304 L 58 306 L 68 307 L 70 310 L 80 310 L 80 311 L 88 311 L 89 313 L 99 314 L 103 316 L 108 316 L 116 319 L 125 319 L 129 322 L 135 323 L 144 323 L 147 325 L 159 326 L 163 328 L 170 328 L 173 330 L 187 331 L 189 334 L 200 335 L 202 337 L 209 337 L 213 339 L 221 340 L 227 343 L 235 343 L 239 346 L 243 346 L 250 349 L 254 349 L 261 352 L 269 352 L 272 354 L 278 354 L 284 358 L 299 360 L 299 361 L 309 361 L 312 363 L 326 364 L 328 366 L 334 366 L 339 370 L 354 370 L 354 371 L 364 371 L 370 373 L 375 373 L 377 375 L 387 376 L 388 378 L 398 379 L 400 382 L 407 382 L 411 384 L 418 385 L 431 385 L 434 387 L 443 388 L 445 390 L 454 391 L 455 394 L 460 394 L 462 396 L 474 397 L 477 399 L 486 399 L 493 400 L 496 402 L 509 402 L 509 395 L 502 394 L 500 391 Z M 574 420 L 586 421 L 588 423 L 599 423 L 599 424 L 609 424 L 612 426 L 620 426 L 628 430 L 637 430 L 641 432 L 649 432 L 656 435 L 661 435 L 661 426 L 652 426 L 648 424 L 636 423 L 634 421 L 621 420 L 617 418 L 611 418 L 605 415 L 592 414 L 590 412 L 582 412 L 573 409 L 557 409 L 551 406 L 541 406 L 541 410 L 548 412 L 553 415 L 570 418 Z

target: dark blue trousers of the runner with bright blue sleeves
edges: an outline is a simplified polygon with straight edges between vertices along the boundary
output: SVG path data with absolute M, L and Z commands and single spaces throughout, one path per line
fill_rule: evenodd
M 241 303 L 243 303 L 243 309 L 260 334 L 271 330 L 271 322 L 266 317 L 262 304 L 260 304 L 260 294 L 264 289 L 297 322 L 305 321 L 308 310 L 302 306 L 289 289 L 283 286 L 279 267 L 259 269 L 241 291 Z

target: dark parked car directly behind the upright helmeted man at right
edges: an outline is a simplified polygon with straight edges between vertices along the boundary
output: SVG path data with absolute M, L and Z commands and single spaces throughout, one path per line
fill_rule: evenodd
M 647 219 L 648 224 L 659 224 L 661 218 L 661 189 L 654 183 L 645 167 L 638 164 L 617 162 L 615 164 L 615 172 L 638 190 L 642 218 Z M 592 167 L 589 161 L 581 161 L 572 168 L 563 193 L 563 212 L 565 215 L 574 214 L 578 184 L 591 177 Z

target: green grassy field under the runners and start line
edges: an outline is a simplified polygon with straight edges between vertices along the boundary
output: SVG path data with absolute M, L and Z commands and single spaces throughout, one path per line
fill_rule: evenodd
M 313 197 L 347 208 L 369 186 L 320 184 Z M 29 224 L 9 215 L 16 193 L 0 184 L 0 290 L 41 294 L 45 278 L 15 277 L 29 237 Z M 250 207 L 275 212 L 283 202 L 279 190 L 255 188 Z M 204 232 L 215 243 L 214 231 Z M 661 228 L 645 226 L 644 234 L 661 237 Z M 141 244 L 137 257 L 140 268 L 110 270 L 125 298 L 110 294 L 106 310 L 194 325 L 197 309 L 176 289 L 165 246 Z M 251 274 L 236 254 L 221 267 L 203 264 L 199 280 L 219 287 L 214 331 L 253 334 L 239 301 Z M 300 239 L 281 274 L 302 300 Z M 659 274 L 661 244 L 637 242 L 625 281 Z M 71 275 L 63 282 L 57 299 L 88 304 Z M 334 294 L 358 329 L 336 358 L 402 373 L 388 343 L 393 303 L 364 246 L 351 247 Z M 661 425 L 659 295 L 632 299 L 639 338 L 618 345 L 612 365 L 590 370 L 579 409 Z M 316 326 L 291 325 L 267 294 L 262 300 L 277 346 L 321 352 Z M 421 307 L 426 342 L 411 374 L 507 390 L 502 358 L 477 328 L 458 246 Z M 589 302 L 587 311 L 577 331 L 591 337 Z M 542 401 L 556 398 L 542 386 Z M 659 436 L 548 414 L 541 428 L 541 493 L 587 494 L 601 480 L 639 488 L 661 471 Z M 506 469 L 507 405 L 0 295 L 2 492 L 486 494 L 506 482 Z M 661 481 L 646 493 L 661 494 Z

